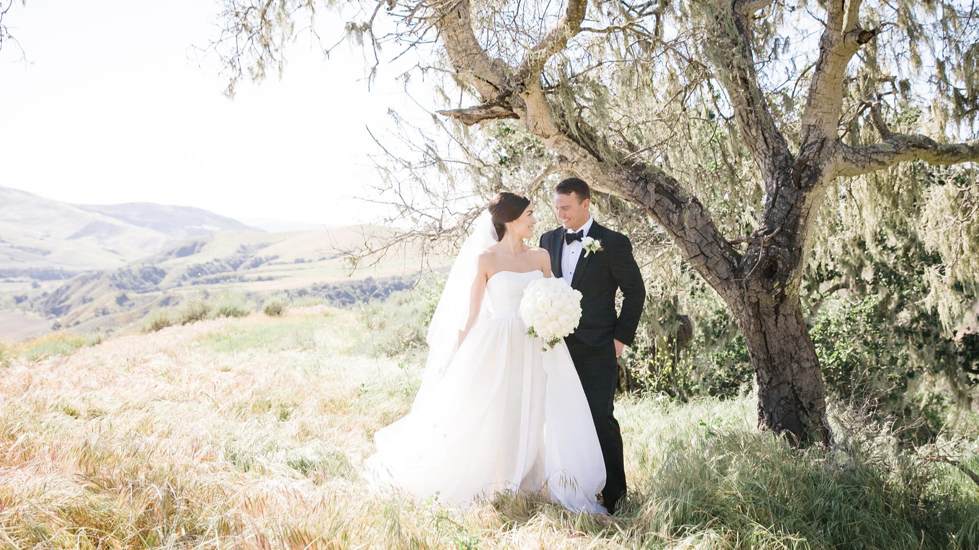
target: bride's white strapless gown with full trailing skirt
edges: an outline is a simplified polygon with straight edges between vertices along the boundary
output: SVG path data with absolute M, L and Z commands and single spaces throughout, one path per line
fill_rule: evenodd
M 605 512 L 595 497 L 605 463 L 568 348 L 541 351 L 518 310 L 524 288 L 541 277 L 489 278 L 484 312 L 442 381 L 375 435 L 363 473 L 374 490 L 457 506 L 526 490 L 571 510 Z

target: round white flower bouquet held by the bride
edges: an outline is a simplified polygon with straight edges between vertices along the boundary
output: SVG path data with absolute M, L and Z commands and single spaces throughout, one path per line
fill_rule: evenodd
M 562 279 L 537 279 L 524 289 L 520 316 L 527 334 L 544 341 L 544 351 L 578 328 L 582 319 L 582 293 Z

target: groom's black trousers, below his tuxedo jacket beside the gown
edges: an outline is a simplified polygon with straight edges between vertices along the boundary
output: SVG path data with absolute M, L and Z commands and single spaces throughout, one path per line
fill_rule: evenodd
M 578 377 L 582 380 L 584 397 L 591 409 L 598 444 L 605 460 L 605 488 L 602 501 L 612 512 L 616 503 L 626 494 L 626 465 L 623 459 L 622 432 L 619 422 L 612 415 L 619 366 L 615 356 L 615 344 L 584 344 L 571 335 L 564 339 L 575 362 Z

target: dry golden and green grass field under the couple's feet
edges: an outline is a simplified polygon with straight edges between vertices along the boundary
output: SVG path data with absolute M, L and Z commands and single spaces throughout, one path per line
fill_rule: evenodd
M 371 436 L 420 375 L 418 353 L 373 353 L 396 336 L 365 328 L 379 313 L 213 319 L 0 366 L 0 546 L 979 547 L 979 490 L 956 468 L 879 426 L 793 450 L 757 433 L 751 396 L 619 399 L 632 490 L 615 518 L 371 495 Z

